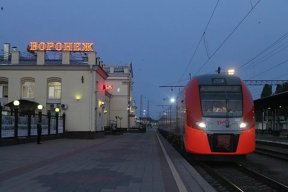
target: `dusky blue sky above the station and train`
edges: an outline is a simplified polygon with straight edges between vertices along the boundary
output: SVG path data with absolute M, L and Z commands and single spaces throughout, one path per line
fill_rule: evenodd
M 257 2 L 251 0 L 252 6 Z M 140 95 L 143 95 L 143 110 L 147 110 L 147 100 L 152 101 L 150 117 L 158 119 L 156 111 L 165 108 L 155 105 L 169 104 L 162 98 L 175 98 L 179 92 L 179 88 L 171 93 L 171 88 L 159 86 L 180 80 L 216 3 L 217 0 L 0 1 L 3 7 L 0 10 L 1 49 L 3 43 L 10 43 L 11 47 L 17 46 L 19 51 L 25 52 L 27 44 L 33 41 L 94 43 L 93 48 L 104 64 L 132 61 L 132 99 L 137 102 L 137 116 L 140 115 Z M 205 32 L 210 55 L 251 10 L 251 3 L 250 0 L 219 1 Z M 288 32 L 287 7 L 286 0 L 261 0 L 198 74 L 217 70 L 218 66 L 225 70 L 237 69 L 285 35 Z M 251 61 L 245 65 L 250 69 L 242 73 L 236 71 L 235 75 L 247 80 L 286 61 L 286 42 L 288 38 L 255 58 L 254 69 Z M 189 73 L 194 75 L 207 60 L 202 39 L 182 79 L 187 79 Z M 287 63 L 251 80 L 271 80 L 279 76 L 278 79 L 287 79 Z M 257 99 L 262 87 L 253 86 L 250 90 Z

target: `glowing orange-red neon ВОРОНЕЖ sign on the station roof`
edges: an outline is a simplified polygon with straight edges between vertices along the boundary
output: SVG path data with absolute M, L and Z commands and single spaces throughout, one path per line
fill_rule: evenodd
M 30 42 L 30 50 L 36 51 L 51 51 L 55 49 L 57 51 L 94 51 L 93 43 L 36 43 Z

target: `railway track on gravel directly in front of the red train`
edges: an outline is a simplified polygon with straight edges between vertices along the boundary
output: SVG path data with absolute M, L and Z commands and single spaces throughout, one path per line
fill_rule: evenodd
M 199 162 L 199 165 L 231 191 L 288 191 L 287 186 L 234 162 Z

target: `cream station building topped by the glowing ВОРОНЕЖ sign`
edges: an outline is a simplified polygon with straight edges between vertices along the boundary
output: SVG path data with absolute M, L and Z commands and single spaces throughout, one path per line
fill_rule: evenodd
M 113 74 L 114 70 L 105 71 L 91 44 L 75 43 L 74 49 L 72 43 L 46 43 L 46 49 L 43 44 L 35 50 L 31 44 L 27 52 L 17 47 L 10 51 L 10 44 L 4 44 L 0 53 L 0 102 L 4 110 L 13 108 L 15 100 L 24 114 L 28 109 L 38 113 L 39 104 L 42 114 L 59 108 L 60 114 L 66 114 L 66 133 L 76 138 L 104 137 L 104 127 L 116 121 L 115 116 L 122 117 L 121 127 L 128 128 L 132 64 Z M 58 49 L 49 50 L 49 44 L 58 45 Z

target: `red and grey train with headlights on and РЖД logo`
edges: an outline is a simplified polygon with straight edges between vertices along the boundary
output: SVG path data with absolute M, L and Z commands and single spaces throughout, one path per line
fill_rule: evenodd
M 195 76 L 161 116 L 158 130 L 180 138 L 198 160 L 243 159 L 255 150 L 252 95 L 237 76 Z

